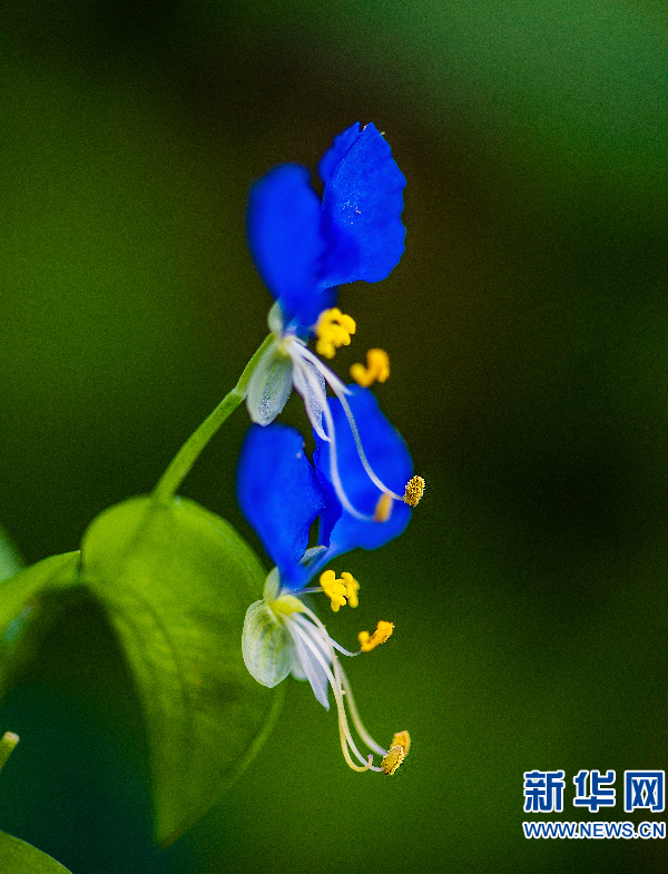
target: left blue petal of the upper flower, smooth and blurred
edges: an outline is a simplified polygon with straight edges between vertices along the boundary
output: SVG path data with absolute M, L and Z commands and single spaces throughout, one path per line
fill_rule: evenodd
M 318 301 L 316 274 L 325 243 L 308 170 L 296 164 L 269 170 L 250 189 L 246 222 L 253 261 L 281 301 L 285 321 L 315 323 L 328 304 Z

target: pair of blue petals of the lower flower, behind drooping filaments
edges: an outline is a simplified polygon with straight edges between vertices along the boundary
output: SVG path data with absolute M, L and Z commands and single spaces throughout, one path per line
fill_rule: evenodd
M 352 387 L 347 403 L 357 433 L 341 401 L 332 400 L 336 441 L 315 434 L 313 465 L 301 434 L 286 425 L 253 425 L 242 446 L 237 498 L 288 589 L 303 588 L 335 556 L 382 547 L 401 534 L 411 518 L 403 501 L 413 470 L 406 444 L 367 389 Z M 317 518 L 320 549 L 305 557 Z

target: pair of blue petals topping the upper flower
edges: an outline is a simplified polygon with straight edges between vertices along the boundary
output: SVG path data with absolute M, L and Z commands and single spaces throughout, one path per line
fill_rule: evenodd
M 355 122 L 323 156 L 317 196 L 305 167 L 284 164 L 250 189 L 248 244 L 285 325 L 310 334 L 335 286 L 380 282 L 404 251 L 406 180 L 374 125 Z

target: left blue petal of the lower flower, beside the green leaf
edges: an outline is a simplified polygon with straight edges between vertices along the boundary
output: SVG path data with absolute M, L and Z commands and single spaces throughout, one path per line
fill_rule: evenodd
M 282 583 L 299 588 L 304 569 L 298 562 L 308 546 L 308 529 L 327 497 L 299 432 L 287 425 L 253 425 L 242 445 L 236 489 L 242 512 L 276 563 Z

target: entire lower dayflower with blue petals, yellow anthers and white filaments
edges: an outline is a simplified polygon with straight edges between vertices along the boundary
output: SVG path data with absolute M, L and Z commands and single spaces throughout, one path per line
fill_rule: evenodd
M 371 455 L 374 464 L 399 489 L 399 483 L 405 484 L 412 471 L 404 441 L 381 413 L 369 390 L 357 390 L 350 403 L 355 413 L 363 413 L 363 438 L 366 432 L 375 434 Z M 338 402 L 334 401 L 335 416 L 341 407 L 336 404 Z M 356 455 L 352 435 L 346 435 L 345 431 L 343 434 L 343 485 L 355 503 L 364 507 L 371 483 Z M 361 632 L 361 649 L 351 652 L 327 634 L 303 598 L 312 592 L 324 592 L 335 611 L 346 603 L 356 607 L 358 585 L 351 573 L 343 572 L 336 579 L 333 570 L 325 570 L 320 573 L 320 586 L 308 586 L 308 582 L 335 556 L 355 547 L 374 549 L 400 534 L 409 522 L 411 510 L 402 504 L 385 521 L 348 513 L 328 479 L 331 468 L 326 452 L 323 452 L 328 444 L 317 433 L 315 436 L 318 446 L 313 465 L 304 452 L 302 435 L 286 425 L 254 425 L 242 448 L 237 471 L 239 504 L 276 562 L 267 577 L 263 600 L 253 603 L 246 613 L 242 642 L 244 661 L 253 677 L 269 688 L 291 672 L 298 679 L 307 679 L 315 697 L 327 709 L 328 688 L 332 687 L 338 710 L 341 746 L 347 764 L 354 770 L 391 774 L 407 753 L 407 733 L 401 733 L 401 743 L 395 736 L 390 749 L 384 749 L 369 735 L 337 652 L 345 656 L 369 652 L 387 640 L 394 626 L 380 621 L 373 634 Z M 310 528 L 315 519 L 320 520 L 318 546 L 307 549 Z M 346 705 L 360 738 L 372 750 L 367 758 L 353 739 Z M 380 766 L 373 765 L 373 753 L 383 757 Z

